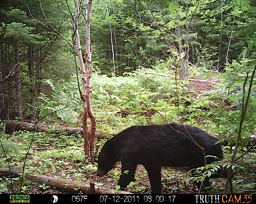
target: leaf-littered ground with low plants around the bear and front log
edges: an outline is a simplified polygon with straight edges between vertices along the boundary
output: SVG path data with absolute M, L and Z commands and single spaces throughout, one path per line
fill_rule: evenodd
M 190 88 L 194 91 L 208 91 L 212 90 L 213 86 L 208 83 L 194 82 L 190 83 Z M 196 97 L 196 94 L 194 97 Z M 32 133 L 27 131 L 17 131 L 11 135 L 12 141 L 16 144 L 24 145 L 24 153 L 28 150 Z M 6 139 L 8 143 L 10 139 Z M 71 135 L 49 132 L 37 133 L 35 135 L 34 143 L 31 146 L 30 154 L 26 162 L 26 171 L 34 171 L 43 175 L 58 177 L 63 179 L 70 179 L 77 182 L 89 184 L 91 180 L 95 185 L 105 186 L 115 189 L 118 183 L 121 164 L 117 163 L 116 166 L 105 176 L 96 176 L 97 163 L 91 163 L 84 160 L 83 157 L 83 143 L 82 135 Z M 96 139 L 95 143 L 101 146 L 105 143 L 104 139 Z M 47 147 L 47 148 L 43 148 Z M 229 147 L 224 147 L 224 152 L 228 153 Z M 101 149 L 101 147 L 100 147 Z M 241 167 L 236 179 L 233 180 L 235 186 L 234 193 L 255 192 L 256 190 L 256 167 L 255 167 L 256 148 L 246 154 L 242 160 Z M 97 158 L 96 158 L 97 159 Z M 24 158 L 19 156 L 12 156 L 9 158 L 12 168 L 22 169 Z M 1 164 L 2 161 L 0 161 Z M 244 171 L 243 171 L 244 170 Z M 164 194 L 196 194 L 198 188 L 190 180 L 192 176 L 186 168 L 169 168 L 163 167 L 162 175 L 162 193 Z M 138 165 L 135 173 L 134 184 L 127 189 L 127 191 L 136 194 L 151 193 L 150 182 L 147 172 L 142 165 Z M 19 193 L 20 192 L 20 179 L 13 180 L 13 189 L 10 184 L 10 179 L 0 178 L 0 193 Z M 211 182 L 208 190 L 203 190 L 202 193 L 216 194 L 222 193 L 225 185 L 225 179 L 214 179 Z M 8 190 L 7 190 L 8 189 Z M 34 180 L 26 179 L 23 183 L 22 193 L 26 194 L 59 194 L 64 193 L 51 186 L 42 186 Z

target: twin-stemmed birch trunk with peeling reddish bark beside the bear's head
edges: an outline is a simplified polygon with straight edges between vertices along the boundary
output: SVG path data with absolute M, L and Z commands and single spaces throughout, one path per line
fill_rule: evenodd
M 78 0 L 75 0 L 76 5 L 76 15 L 74 18 L 74 33 L 76 38 L 76 47 L 78 52 L 78 59 L 80 63 L 80 70 L 82 72 L 82 100 L 83 100 L 83 131 L 84 131 L 84 153 L 85 155 L 90 156 L 93 158 L 94 156 L 94 139 L 95 139 L 95 130 L 96 130 L 96 120 L 95 116 L 92 113 L 92 105 L 90 100 L 90 93 L 91 93 L 91 73 L 92 73 L 92 55 L 91 55 L 91 48 L 90 48 L 90 16 L 92 11 L 92 0 L 88 1 L 86 5 L 87 14 L 86 14 L 86 51 L 84 52 L 84 58 L 86 60 L 86 70 L 84 67 L 81 45 L 80 45 L 80 38 L 78 33 L 78 18 L 79 18 L 79 5 Z M 87 127 L 87 116 L 89 115 L 91 120 L 91 132 L 89 136 L 88 127 Z M 90 150 L 89 150 L 90 145 Z

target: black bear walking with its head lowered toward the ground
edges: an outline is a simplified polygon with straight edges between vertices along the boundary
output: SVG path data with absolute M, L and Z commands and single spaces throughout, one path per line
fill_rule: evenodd
M 216 144 L 217 141 L 202 129 L 192 126 L 134 126 L 105 143 L 98 157 L 97 175 L 102 177 L 117 161 L 121 161 L 122 173 L 118 185 L 126 188 L 134 180 L 137 164 L 142 164 L 148 171 L 152 193 L 160 194 L 162 166 L 187 166 L 190 169 L 204 166 L 204 153 L 198 145 L 204 147 L 205 155 L 222 159 L 221 145 Z M 214 160 L 214 157 L 206 157 L 207 164 Z M 126 170 L 128 174 L 124 173 Z M 214 176 L 220 176 L 220 172 Z M 204 181 L 204 185 L 210 185 L 209 179 Z

